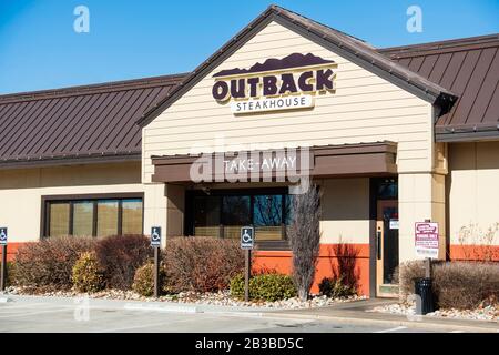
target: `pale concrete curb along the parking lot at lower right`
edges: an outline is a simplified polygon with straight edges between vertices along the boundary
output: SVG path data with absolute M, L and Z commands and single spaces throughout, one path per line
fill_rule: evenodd
M 454 320 L 435 320 L 437 322 L 428 322 L 428 318 L 424 318 L 422 321 L 406 321 L 406 320 L 373 320 L 373 318 L 363 318 L 363 317 L 349 317 L 349 316 L 329 316 L 329 315 L 317 315 L 317 314 L 294 314 L 294 313 L 262 313 L 262 317 L 284 317 L 284 318 L 299 318 L 299 320 L 309 320 L 309 321 L 326 321 L 326 322 L 338 322 L 338 323 L 348 323 L 356 325 L 366 325 L 366 324 L 377 324 L 377 325 L 386 325 L 386 326 L 406 326 L 413 328 L 425 328 L 425 329 L 440 329 L 440 331 L 464 331 L 471 333 L 498 333 L 499 325 L 493 323 L 486 324 L 477 324 L 477 325 L 464 325 L 454 321 Z M 440 323 L 446 322 L 446 323 Z M 480 322 L 480 321 L 467 321 L 467 322 Z

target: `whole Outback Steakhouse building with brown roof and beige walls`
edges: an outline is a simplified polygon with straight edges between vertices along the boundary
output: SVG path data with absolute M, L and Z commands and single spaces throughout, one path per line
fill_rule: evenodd
M 360 292 L 394 294 L 426 220 L 439 258 L 497 261 L 498 49 L 498 34 L 376 49 L 272 6 L 191 73 L 2 95 L 9 253 L 54 235 L 238 237 L 253 224 L 256 267 L 289 272 L 288 186 L 306 173 L 323 191 L 316 281 L 346 244 Z

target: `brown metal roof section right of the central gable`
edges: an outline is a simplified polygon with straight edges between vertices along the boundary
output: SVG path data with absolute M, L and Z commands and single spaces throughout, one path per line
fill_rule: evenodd
M 386 48 L 390 60 L 459 99 L 436 122 L 437 141 L 499 136 L 499 34 Z

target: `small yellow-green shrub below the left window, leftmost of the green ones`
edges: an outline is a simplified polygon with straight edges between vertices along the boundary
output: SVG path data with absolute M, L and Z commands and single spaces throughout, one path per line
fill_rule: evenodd
M 79 292 L 98 292 L 104 288 L 104 277 L 95 252 L 84 252 L 73 266 L 73 287 Z

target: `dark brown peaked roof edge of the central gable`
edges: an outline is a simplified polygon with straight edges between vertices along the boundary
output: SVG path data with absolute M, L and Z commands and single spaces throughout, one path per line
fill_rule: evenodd
M 147 125 L 173 102 L 198 83 L 214 68 L 232 55 L 254 34 L 272 21 L 275 21 L 302 34 L 303 37 L 337 52 L 359 67 L 375 72 L 379 77 L 385 78 L 386 80 L 404 88 L 424 100 L 441 106 L 441 113 L 447 112 L 456 101 L 456 95 L 451 91 L 429 81 L 418 73 L 408 70 L 407 67 L 389 60 L 379 53 L 373 45 L 355 37 L 310 20 L 304 16 L 272 4 L 253 22 L 226 42 L 212 57 L 198 65 L 184 79 L 181 85 L 169 92 L 157 105 L 154 105 L 150 111 L 144 113 L 143 118 L 138 123 L 141 126 Z

